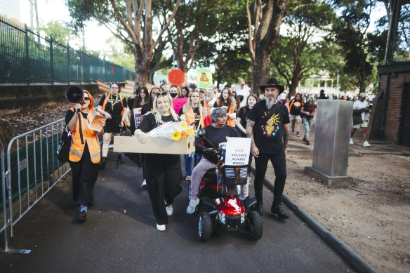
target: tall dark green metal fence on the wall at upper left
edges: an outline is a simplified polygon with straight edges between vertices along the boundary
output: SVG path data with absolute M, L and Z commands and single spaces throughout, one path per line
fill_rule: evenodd
M 0 84 L 133 80 L 135 71 L 76 51 L 0 17 Z

